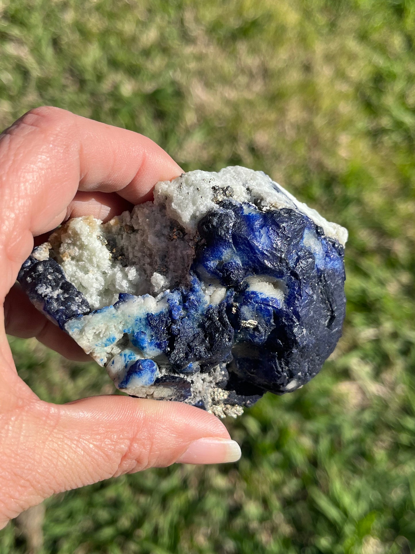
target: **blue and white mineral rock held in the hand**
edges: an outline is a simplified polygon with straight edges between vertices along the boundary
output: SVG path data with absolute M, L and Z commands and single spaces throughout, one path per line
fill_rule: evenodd
M 108 223 L 70 220 L 18 280 L 121 391 L 237 416 L 334 350 L 346 239 L 262 172 L 192 171 Z

